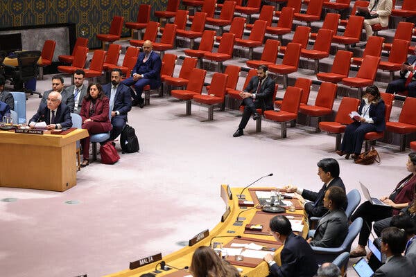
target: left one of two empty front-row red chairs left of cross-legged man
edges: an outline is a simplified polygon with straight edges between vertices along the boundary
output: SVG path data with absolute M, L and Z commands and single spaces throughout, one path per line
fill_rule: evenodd
M 187 116 L 191 115 L 191 100 L 193 96 L 196 96 L 197 94 L 201 94 L 202 87 L 204 87 L 204 80 L 205 75 L 207 74 L 207 71 L 203 69 L 192 69 L 190 73 L 189 82 L 187 84 L 186 89 L 173 89 L 171 91 L 171 96 L 180 99 L 185 100 L 187 105 Z

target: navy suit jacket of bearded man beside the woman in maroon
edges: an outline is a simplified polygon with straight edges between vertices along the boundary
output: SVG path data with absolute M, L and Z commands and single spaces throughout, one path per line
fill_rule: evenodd
M 112 84 L 108 83 L 103 85 L 103 92 L 110 100 Z M 120 114 L 116 117 L 124 118 L 127 120 L 127 113 L 132 109 L 132 95 L 130 87 L 120 83 L 116 90 L 116 96 L 114 97 L 113 111 L 119 111 Z

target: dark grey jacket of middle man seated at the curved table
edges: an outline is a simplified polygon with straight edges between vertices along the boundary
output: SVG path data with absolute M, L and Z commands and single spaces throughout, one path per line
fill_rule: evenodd
M 328 211 L 318 222 L 311 241 L 314 247 L 340 247 L 348 233 L 348 218 L 345 211 Z

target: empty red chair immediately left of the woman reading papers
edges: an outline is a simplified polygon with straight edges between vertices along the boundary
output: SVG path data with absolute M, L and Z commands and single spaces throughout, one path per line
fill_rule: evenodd
M 343 97 L 340 107 L 334 121 L 322 121 L 319 123 L 321 131 L 328 132 L 328 134 L 336 134 L 335 150 L 341 149 L 341 139 L 343 132 L 348 124 L 352 123 L 352 118 L 349 116 L 351 111 L 356 111 L 360 105 L 360 100 L 356 98 Z

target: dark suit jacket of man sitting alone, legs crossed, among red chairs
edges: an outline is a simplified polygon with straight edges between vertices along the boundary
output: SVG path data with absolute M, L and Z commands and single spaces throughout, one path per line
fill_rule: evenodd
M 247 87 L 245 87 L 245 92 L 255 93 L 257 86 L 259 85 L 259 78 L 254 76 L 248 82 Z M 272 78 L 267 77 L 263 80 L 261 84 L 260 92 L 256 93 L 256 101 L 260 101 L 261 109 L 263 111 L 274 109 L 274 102 L 273 93 L 275 92 L 275 82 L 273 82 Z

